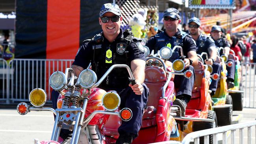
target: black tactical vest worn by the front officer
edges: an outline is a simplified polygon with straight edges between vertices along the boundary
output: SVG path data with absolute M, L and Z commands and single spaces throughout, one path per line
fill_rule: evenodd
M 100 38 L 98 38 L 100 37 Z M 96 39 L 95 39 L 96 38 Z M 106 71 L 115 64 L 126 64 L 130 67 L 130 61 L 128 61 L 129 53 L 128 46 L 133 39 L 132 31 L 125 30 L 122 33 L 122 37 L 120 39 L 115 39 L 115 41 L 108 46 L 104 45 L 104 38 L 102 33 L 95 35 L 92 39 L 93 41 L 93 61 L 92 70 L 95 71 L 98 80 L 106 73 Z M 117 45 L 119 48 L 117 48 Z M 111 63 L 106 63 L 106 53 L 107 50 L 110 49 Z M 120 90 L 124 89 L 130 83 L 129 74 L 126 68 L 115 68 L 106 79 L 100 84 L 100 88 L 104 90 Z

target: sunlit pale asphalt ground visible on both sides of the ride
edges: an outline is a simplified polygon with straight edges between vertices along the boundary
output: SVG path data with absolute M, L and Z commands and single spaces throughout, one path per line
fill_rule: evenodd
M 234 123 L 249 122 L 256 118 L 255 108 L 244 108 L 243 111 L 234 111 Z M 52 135 L 54 117 L 48 111 L 31 111 L 22 116 L 16 109 L 0 109 L 0 144 L 33 144 L 34 138 L 49 140 Z M 247 129 L 244 132 L 244 144 L 247 144 Z M 221 144 L 222 135 L 218 135 Z M 236 141 L 239 140 L 239 131 L 236 131 Z M 230 144 L 230 134 L 228 134 Z M 255 127 L 252 129 L 252 144 L 255 144 Z

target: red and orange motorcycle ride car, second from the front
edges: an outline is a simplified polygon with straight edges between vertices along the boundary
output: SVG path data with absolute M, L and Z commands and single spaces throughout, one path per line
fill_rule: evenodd
M 179 46 L 178 48 L 181 51 L 181 59 L 173 61 L 173 70 L 175 72 L 180 72 L 185 67 L 182 60 L 182 57 L 184 57 L 182 47 Z M 215 112 L 212 111 L 211 96 L 209 93 L 210 72 L 208 71 L 208 65 L 204 65 L 200 55 L 198 55 L 198 59 L 200 59 L 198 60 L 198 65 L 194 66 L 195 82 L 192 96 L 189 103 L 187 103 L 185 116 L 180 115 L 174 117 L 179 124 L 180 137 L 171 138 L 171 140 L 182 141 L 188 133 L 217 126 L 217 117 Z M 218 74 L 213 74 L 213 76 L 214 78 L 218 78 Z M 178 105 L 173 105 L 173 107 L 180 109 Z M 212 135 L 209 138 L 212 143 Z M 200 143 L 203 143 L 203 138 L 200 138 Z

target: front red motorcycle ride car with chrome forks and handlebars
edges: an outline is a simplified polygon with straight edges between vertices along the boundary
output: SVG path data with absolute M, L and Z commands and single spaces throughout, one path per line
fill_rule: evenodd
M 159 58 L 156 59 L 161 61 Z M 168 141 L 170 136 L 178 137 L 173 118 L 176 113 L 175 109 L 171 109 L 174 100 L 171 73 L 165 71 L 164 63 L 162 66 L 163 68 L 156 65 L 146 67 L 145 83 L 152 91 L 143 114 L 139 137 L 135 138 L 133 143 L 161 142 Z M 32 110 L 52 111 L 56 114 L 51 140 L 42 141 L 41 144 L 59 144 L 61 128 L 73 131 L 70 144 L 114 144 L 119 137 L 117 128 L 122 120 L 128 121 L 132 118 L 132 111 L 128 108 L 119 110 L 121 99 L 116 92 L 106 92 L 97 87 L 111 70 L 119 67 L 126 68 L 130 78 L 134 79 L 127 65 L 111 66 L 98 82 L 95 72 L 90 69 L 83 70 L 75 84 L 74 71 L 71 68 L 67 68 L 65 74 L 60 71 L 54 72 L 49 81 L 50 86 L 60 93 L 58 109 L 43 107 L 46 103 L 46 92 L 37 88 L 32 90 L 29 96 L 33 106 L 22 102 L 17 105 L 17 111 L 22 115 Z

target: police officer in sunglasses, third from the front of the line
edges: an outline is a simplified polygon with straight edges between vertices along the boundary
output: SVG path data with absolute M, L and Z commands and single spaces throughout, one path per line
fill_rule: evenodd
M 215 63 L 217 58 L 217 50 L 215 46 L 215 42 L 211 37 L 208 37 L 204 34 L 200 33 L 201 22 L 198 18 L 193 17 L 189 19 L 189 34 L 196 41 L 197 44 L 197 54 L 201 54 L 202 52 L 206 52 L 208 54 L 209 59 L 206 59 L 206 65 L 211 65 L 213 68 L 213 72 L 211 74 L 217 73 L 219 76 L 221 75 L 221 65 L 219 63 Z M 211 90 L 211 96 L 215 94 L 215 91 L 218 86 L 218 81 L 211 81 L 211 85 L 209 89 Z

